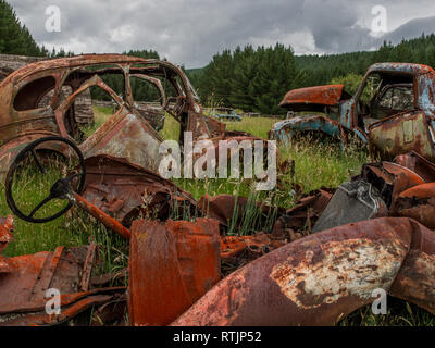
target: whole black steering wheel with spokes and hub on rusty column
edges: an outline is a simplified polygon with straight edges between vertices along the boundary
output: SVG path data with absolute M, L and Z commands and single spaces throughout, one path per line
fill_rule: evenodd
M 15 199 L 12 195 L 12 187 L 13 187 L 13 182 L 14 177 L 18 176 L 15 175 L 20 164 L 25 161 L 28 156 L 32 156 L 34 161 L 36 162 L 36 165 L 41 174 L 47 174 L 46 165 L 45 163 L 41 162 L 38 158 L 36 148 L 39 147 L 44 142 L 63 142 L 67 145 L 71 149 L 73 149 L 74 153 L 78 158 L 78 171 L 75 171 L 75 174 L 70 174 L 64 178 L 59 178 L 54 185 L 50 188 L 50 194 L 39 203 L 37 204 L 34 209 L 32 209 L 30 213 L 26 214 L 24 213 L 15 203 Z M 58 219 L 59 216 L 63 215 L 66 211 L 71 209 L 73 206 L 73 200 L 72 194 L 73 194 L 73 184 L 72 182 L 78 178 L 78 183 L 76 186 L 76 189 L 74 189 L 77 194 L 82 194 L 84 186 L 85 186 L 85 178 L 86 178 L 86 169 L 85 169 L 85 160 L 83 157 L 82 151 L 78 149 L 78 147 L 71 140 L 62 137 L 45 137 L 37 139 L 29 145 L 27 145 L 14 159 L 12 162 L 11 167 L 9 169 L 8 175 L 7 175 L 7 182 L 5 182 L 5 196 L 7 196 L 7 202 L 9 208 L 21 219 L 33 222 L 33 223 L 45 223 L 52 221 L 54 219 Z M 69 203 L 66 207 L 64 207 L 61 211 L 54 213 L 51 216 L 48 217 L 34 217 L 35 213 L 39 211 L 44 206 L 46 206 L 48 202 L 50 202 L 53 199 L 69 199 Z

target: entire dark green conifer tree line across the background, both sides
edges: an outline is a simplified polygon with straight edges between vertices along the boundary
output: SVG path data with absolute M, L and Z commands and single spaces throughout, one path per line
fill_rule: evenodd
M 48 58 L 74 55 L 74 52 L 63 49 L 48 51 L 38 46 L 5 0 L 0 0 L 0 53 Z M 159 53 L 152 50 L 130 50 L 123 54 L 159 59 Z M 295 55 L 291 47 L 281 44 L 238 47 L 234 51 L 216 53 L 202 69 L 186 72 L 207 107 L 279 114 L 284 110 L 278 108 L 278 103 L 288 90 L 344 83 L 352 94 L 368 67 L 376 62 L 421 63 L 435 67 L 435 35 L 422 34 L 396 46 L 384 41 L 376 51 L 325 55 Z M 121 76 L 105 76 L 104 80 L 116 92 L 123 92 Z M 156 100 L 158 94 L 150 84 L 137 79 L 132 84 L 136 100 Z M 99 89 L 92 89 L 92 97 L 109 99 Z

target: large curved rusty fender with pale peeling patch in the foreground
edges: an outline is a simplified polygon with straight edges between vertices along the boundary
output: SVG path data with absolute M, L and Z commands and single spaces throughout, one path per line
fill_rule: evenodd
M 237 270 L 172 325 L 333 325 L 373 290 L 435 313 L 435 234 L 410 219 L 327 229 Z

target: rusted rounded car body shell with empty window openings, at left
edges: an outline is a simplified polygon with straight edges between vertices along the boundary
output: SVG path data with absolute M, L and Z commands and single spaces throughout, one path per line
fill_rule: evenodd
M 107 76 L 123 80 L 121 92 L 108 85 Z M 181 141 L 185 130 L 192 132 L 194 140 L 225 135 L 225 125 L 204 116 L 187 76 L 170 62 L 121 54 L 41 61 L 15 71 L 0 84 L 0 177 L 23 146 L 50 135 L 73 138 L 85 158 L 101 153 L 127 158 L 156 172 L 160 163 L 159 146 L 163 141 L 151 125 L 157 112 L 154 107 L 148 110 L 136 102 L 133 80 L 154 87 L 161 111 L 172 114 L 181 124 Z M 64 87 L 71 94 L 62 99 Z M 117 110 L 84 140 L 74 117 L 74 100 L 90 88 L 102 90 Z M 40 105 L 49 94 L 52 94 L 49 104 Z M 50 150 L 67 154 L 65 148 Z

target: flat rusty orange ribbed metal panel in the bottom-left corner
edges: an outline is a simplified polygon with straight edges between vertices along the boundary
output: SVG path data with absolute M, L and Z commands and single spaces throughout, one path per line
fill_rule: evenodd
M 124 287 L 89 289 L 94 256 L 91 245 L 8 259 L 9 272 L 0 275 L 0 325 L 55 325 L 114 300 Z M 45 311 L 49 288 L 61 294 L 60 315 Z

